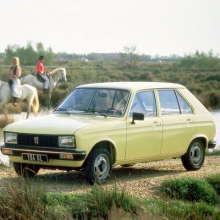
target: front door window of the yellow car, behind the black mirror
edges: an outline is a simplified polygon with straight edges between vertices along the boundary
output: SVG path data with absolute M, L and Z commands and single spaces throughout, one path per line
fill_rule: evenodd
M 150 90 L 136 93 L 131 105 L 129 117 L 132 117 L 133 112 L 143 113 L 145 117 L 156 116 L 154 91 Z

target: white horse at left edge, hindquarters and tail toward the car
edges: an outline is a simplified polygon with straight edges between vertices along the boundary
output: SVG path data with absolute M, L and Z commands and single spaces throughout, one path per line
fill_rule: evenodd
M 36 114 L 39 110 L 39 99 L 37 89 L 31 85 L 21 85 L 21 97 L 20 100 L 27 102 L 27 116 L 28 118 L 31 107 L 32 111 Z M 11 103 L 11 88 L 8 83 L 0 81 L 0 106 L 3 107 L 6 112 L 5 104 Z

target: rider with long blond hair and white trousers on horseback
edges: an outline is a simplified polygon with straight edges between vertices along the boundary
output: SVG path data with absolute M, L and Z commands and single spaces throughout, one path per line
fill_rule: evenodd
M 12 66 L 9 70 L 9 80 L 8 83 L 11 87 L 12 91 L 12 98 L 13 98 L 13 105 L 17 106 L 17 99 L 21 97 L 21 89 L 20 89 L 20 76 L 21 76 L 21 67 L 20 61 L 18 57 L 12 58 Z

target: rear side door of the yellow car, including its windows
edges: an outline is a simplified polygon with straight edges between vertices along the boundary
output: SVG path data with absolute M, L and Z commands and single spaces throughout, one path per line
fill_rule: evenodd
M 158 96 L 163 124 L 161 155 L 185 153 L 195 130 L 193 110 L 175 90 L 159 90 Z

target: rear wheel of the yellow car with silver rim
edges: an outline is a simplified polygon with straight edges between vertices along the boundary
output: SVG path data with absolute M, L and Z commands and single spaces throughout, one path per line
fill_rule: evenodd
M 205 147 L 202 141 L 194 140 L 186 154 L 181 157 L 181 161 L 186 170 L 199 170 L 205 160 Z

